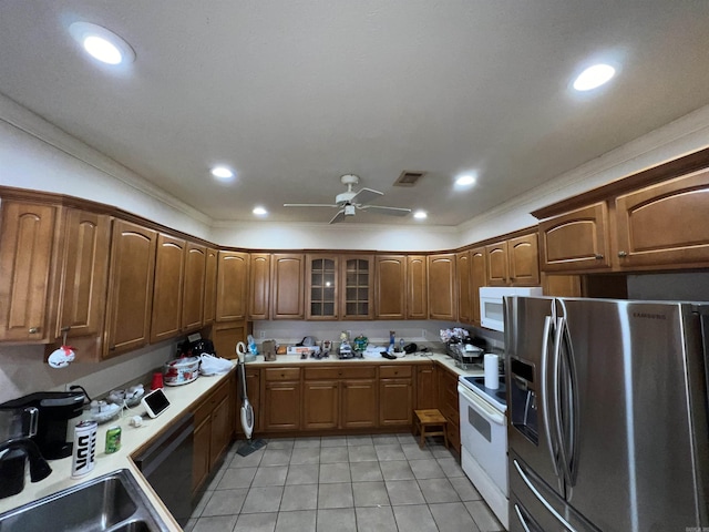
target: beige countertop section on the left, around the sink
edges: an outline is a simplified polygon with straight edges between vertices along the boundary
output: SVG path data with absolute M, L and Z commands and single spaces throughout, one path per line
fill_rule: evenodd
M 227 374 L 228 375 L 228 374 Z M 86 480 L 101 477 L 102 474 L 116 471 L 119 469 L 127 469 L 131 471 L 137 483 L 143 488 L 147 494 L 150 501 L 153 503 L 155 510 L 160 516 L 165 521 L 171 530 L 181 531 L 182 528 L 173 519 L 167 509 L 163 505 L 160 498 L 152 490 L 150 484 L 145 481 L 140 473 L 131 456 L 135 454 L 137 450 L 144 447 L 150 440 L 160 434 L 163 429 L 168 427 L 173 421 L 178 419 L 189 407 L 206 395 L 214 388 L 215 385 L 222 381 L 226 376 L 204 377 L 201 376 L 195 381 L 183 385 L 168 387 L 166 386 L 164 391 L 165 396 L 171 402 L 169 408 L 165 410 L 161 416 L 155 419 L 151 419 L 147 416 L 143 418 L 142 427 L 135 428 L 130 424 L 130 420 L 133 416 L 145 413 L 145 409 L 142 406 L 133 407 L 129 410 L 123 410 L 123 416 L 115 418 L 106 423 L 99 426 L 99 434 L 96 439 L 96 461 L 93 470 L 79 479 L 71 478 L 71 457 L 63 458 L 61 460 L 50 460 L 49 464 L 52 468 L 52 474 L 47 479 L 32 483 L 29 478 L 24 483 L 24 490 L 6 499 L 0 499 L 0 513 L 11 510 L 13 508 L 21 507 L 28 502 L 35 501 L 47 495 L 56 493 L 58 491 L 71 488 Z M 112 454 L 105 453 L 106 430 L 110 427 L 119 426 L 122 429 L 121 432 L 121 449 Z

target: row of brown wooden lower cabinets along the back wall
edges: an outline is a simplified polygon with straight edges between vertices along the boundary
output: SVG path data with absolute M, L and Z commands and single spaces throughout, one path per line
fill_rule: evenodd
M 247 378 L 249 401 L 260 407 L 255 432 L 402 429 L 412 427 L 414 408 L 439 408 L 460 452 L 458 375 L 435 362 L 259 366 Z

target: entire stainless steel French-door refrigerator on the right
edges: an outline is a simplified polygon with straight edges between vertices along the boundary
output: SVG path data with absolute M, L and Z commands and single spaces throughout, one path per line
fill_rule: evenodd
M 709 305 L 505 298 L 511 531 L 709 530 Z

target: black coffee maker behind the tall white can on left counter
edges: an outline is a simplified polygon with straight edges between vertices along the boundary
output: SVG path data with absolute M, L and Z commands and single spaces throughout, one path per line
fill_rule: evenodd
M 37 408 L 37 434 L 31 439 L 42 457 L 55 460 L 71 456 L 73 434 L 69 440 L 69 420 L 81 416 L 84 399 L 83 391 L 39 391 L 3 402 L 0 410 Z

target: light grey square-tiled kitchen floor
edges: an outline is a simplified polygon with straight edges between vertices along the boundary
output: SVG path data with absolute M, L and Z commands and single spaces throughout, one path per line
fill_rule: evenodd
M 234 443 L 187 532 L 496 532 L 504 528 L 436 439 L 411 434 Z

